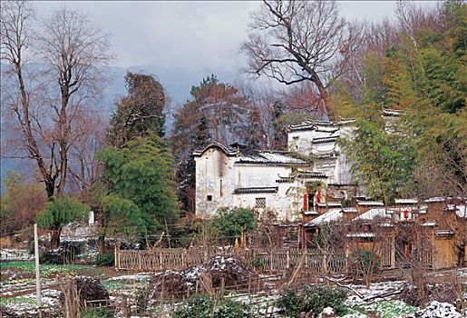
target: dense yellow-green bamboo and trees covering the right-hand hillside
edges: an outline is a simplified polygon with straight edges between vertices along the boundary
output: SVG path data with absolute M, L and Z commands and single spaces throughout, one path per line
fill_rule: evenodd
M 361 118 L 344 149 L 369 194 L 389 202 L 467 194 L 466 10 L 447 1 L 425 15 L 402 12 L 412 22 L 394 30 L 384 55 L 365 53 L 357 93 L 345 81 L 336 85 L 340 114 Z M 400 118 L 383 123 L 384 107 Z

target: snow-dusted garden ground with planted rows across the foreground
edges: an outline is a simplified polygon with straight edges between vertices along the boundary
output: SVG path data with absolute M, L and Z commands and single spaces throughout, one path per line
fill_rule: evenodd
M 212 266 L 203 265 L 203 268 L 209 268 L 209 271 L 219 272 L 228 271 L 230 263 L 227 257 L 217 259 L 211 262 Z M 202 272 L 199 266 L 190 269 L 186 277 L 190 282 L 199 280 L 199 274 Z M 245 273 L 244 270 L 238 267 L 237 272 Z M 35 284 L 34 284 L 34 263 L 32 262 L 10 262 L 0 263 L 2 272 L 1 277 L 1 306 L 4 316 L 7 313 L 23 313 L 33 315 L 35 309 Z M 174 271 L 165 271 L 161 273 L 115 273 L 111 269 L 104 269 L 94 266 L 85 265 L 41 265 L 42 288 L 43 288 L 43 303 L 44 313 L 57 314 L 61 311 L 59 305 L 59 295 L 61 291 L 61 281 L 65 278 L 75 275 L 89 275 L 101 279 L 102 285 L 109 292 L 112 308 L 117 308 L 116 317 L 124 317 L 126 313 L 122 308 L 127 305 L 133 315 L 137 317 L 137 307 L 141 302 L 141 294 L 148 291 L 151 277 L 164 276 L 167 273 Z M 464 279 L 466 270 L 458 271 L 455 274 L 457 277 Z M 436 273 L 436 278 L 443 278 L 443 274 L 452 273 Z M 218 276 L 219 277 L 219 276 Z M 240 277 L 241 278 L 241 277 Z M 253 317 L 285 317 L 283 310 L 278 307 L 277 300 L 280 297 L 278 293 L 279 285 L 283 284 L 283 277 L 258 275 L 262 282 L 261 291 L 252 291 L 245 293 L 242 291 L 226 290 L 225 298 L 243 303 L 247 306 L 248 312 Z M 268 280 L 269 279 L 269 280 Z M 297 280 L 300 282 L 300 280 Z M 316 281 L 316 280 L 315 280 Z M 432 302 L 423 310 L 397 300 L 399 292 L 403 289 L 404 281 L 391 281 L 382 283 L 372 283 L 371 287 L 366 288 L 365 285 L 357 285 L 345 283 L 344 279 L 337 279 L 337 283 L 349 287 L 356 293 L 349 292 L 345 300 L 345 306 L 348 312 L 343 316 L 345 318 L 427 318 L 427 317 L 446 317 L 446 318 L 461 318 L 462 313 L 455 310 L 455 307 L 449 303 Z M 268 282 L 268 283 L 265 283 Z M 320 283 L 326 283 L 323 281 Z M 332 285 L 332 284 L 331 284 Z M 190 284 L 194 288 L 194 283 Z M 219 293 L 219 286 L 216 288 L 216 293 Z M 201 292 L 201 290 L 199 290 Z M 254 293 L 253 293 L 254 292 Z M 157 294 L 157 293 L 156 293 Z M 386 295 L 382 298 L 377 296 Z M 376 299 L 374 299 L 376 297 Z M 186 300 L 185 300 L 186 301 Z M 185 303 L 182 299 L 155 299 L 147 302 L 144 313 L 160 313 L 164 317 L 170 317 L 181 304 Z M 140 314 L 144 316 L 143 314 Z

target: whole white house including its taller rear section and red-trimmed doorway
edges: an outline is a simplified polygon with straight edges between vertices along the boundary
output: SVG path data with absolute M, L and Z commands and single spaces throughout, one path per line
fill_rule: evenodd
M 355 121 L 306 121 L 288 130 L 288 151 L 252 150 L 240 144 L 209 144 L 193 153 L 196 214 L 209 218 L 220 207 L 271 209 L 293 221 L 326 201 L 356 195 L 350 167 L 336 143 Z M 304 160 L 309 158 L 310 160 Z

